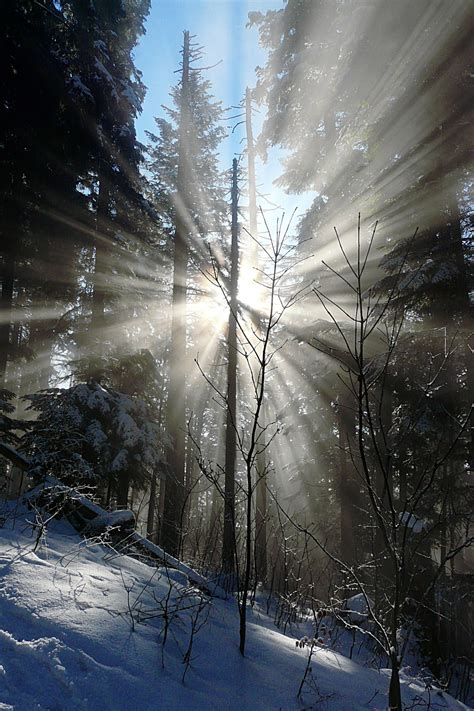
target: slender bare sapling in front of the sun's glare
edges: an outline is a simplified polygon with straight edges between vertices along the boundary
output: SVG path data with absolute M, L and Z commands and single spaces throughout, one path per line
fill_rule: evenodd
M 280 333 L 282 319 L 294 304 L 296 304 L 307 291 L 305 286 L 301 288 L 289 288 L 287 284 L 289 273 L 295 264 L 296 246 L 289 238 L 288 231 L 291 220 L 286 226 L 284 220 L 277 221 L 275 234 L 273 235 L 263 216 L 266 228 L 266 238 L 257 239 L 249 234 L 258 248 L 263 252 L 261 268 L 256 268 L 256 281 L 261 286 L 265 295 L 260 307 L 260 328 L 257 330 L 252 318 L 246 318 L 242 305 L 235 306 L 228 296 L 225 280 L 223 280 L 218 263 L 213 260 L 213 271 L 208 274 L 209 280 L 219 288 L 224 295 L 233 318 L 235 319 L 237 331 L 237 353 L 241 366 L 245 368 L 250 382 L 250 393 L 248 398 L 243 396 L 245 411 L 242 415 L 242 423 L 236 418 L 230 418 L 237 446 L 238 459 L 243 470 L 243 482 L 237 486 L 237 494 L 243 502 L 244 509 L 244 553 L 242 563 L 237 559 L 237 575 L 239 578 L 238 606 L 240 616 L 240 652 L 245 652 L 246 630 L 247 630 L 247 603 L 251 593 L 251 576 L 253 570 L 253 554 L 255 540 L 255 520 L 254 520 L 254 495 L 259 484 L 259 478 L 255 477 L 257 460 L 261 461 L 262 453 L 267 450 L 278 432 L 278 423 L 271 418 L 263 423 L 263 406 L 266 398 L 268 375 L 274 367 L 275 356 L 284 345 L 284 341 L 277 339 Z M 199 366 L 199 363 L 198 363 Z M 223 391 L 209 378 L 204 371 L 202 374 L 211 385 L 217 402 L 225 408 L 227 413 L 232 412 L 227 391 Z M 242 399 L 242 397 L 241 397 Z M 243 423 L 245 423 L 244 426 Z M 216 468 L 199 456 L 199 465 L 205 475 L 214 481 L 219 487 L 218 474 L 221 467 Z M 266 476 L 269 464 L 265 466 L 263 472 L 259 471 L 259 476 Z M 225 492 L 221 490 L 224 496 Z M 234 547 L 237 547 L 235 530 L 235 518 L 233 529 Z

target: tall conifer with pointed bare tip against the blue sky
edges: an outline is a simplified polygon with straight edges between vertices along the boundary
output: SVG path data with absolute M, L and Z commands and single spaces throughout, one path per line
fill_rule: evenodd
M 217 147 L 224 136 L 218 125 L 220 102 L 212 102 L 209 82 L 192 63 L 200 50 L 184 33 L 181 82 L 172 90 L 171 121 L 156 119 L 158 136 L 149 133 L 148 168 L 156 204 L 166 210 L 173 235 L 173 293 L 167 403 L 168 476 L 164 485 L 161 542 L 172 554 L 180 548 L 184 507 L 186 433 L 186 294 L 189 260 L 204 253 L 219 224 L 225 203 L 217 169 Z

